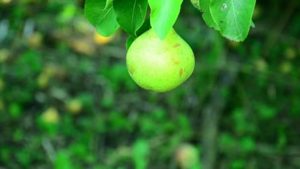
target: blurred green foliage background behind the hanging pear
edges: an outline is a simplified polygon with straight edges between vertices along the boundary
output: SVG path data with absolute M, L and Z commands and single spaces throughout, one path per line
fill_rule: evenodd
M 100 44 L 83 4 L 0 0 L 0 168 L 205 169 L 203 111 L 216 107 L 212 91 L 234 65 L 220 90 L 213 165 L 300 168 L 298 0 L 258 1 L 242 43 L 207 28 L 185 1 L 175 29 L 196 66 L 167 93 L 132 81 L 128 35 Z

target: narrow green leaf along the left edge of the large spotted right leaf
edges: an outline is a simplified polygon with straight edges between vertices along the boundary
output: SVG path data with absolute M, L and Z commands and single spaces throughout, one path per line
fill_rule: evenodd
M 219 26 L 214 21 L 210 12 L 210 4 L 211 0 L 200 0 L 199 6 L 203 11 L 202 18 L 208 27 L 214 28 L 215 30 L 219 31 Z

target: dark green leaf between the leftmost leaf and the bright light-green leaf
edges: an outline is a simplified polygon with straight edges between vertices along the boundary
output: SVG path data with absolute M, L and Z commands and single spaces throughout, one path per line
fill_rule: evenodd
M 147 0 L 113 0 L 116 20 L 133 37 L 146 18 Z

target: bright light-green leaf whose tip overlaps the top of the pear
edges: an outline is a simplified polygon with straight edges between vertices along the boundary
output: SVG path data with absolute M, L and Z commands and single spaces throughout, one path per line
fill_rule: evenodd
M 163 40 L 172 29 L 183 0 L 148 0 L 151 8 L 150 23 L 157 36 Z

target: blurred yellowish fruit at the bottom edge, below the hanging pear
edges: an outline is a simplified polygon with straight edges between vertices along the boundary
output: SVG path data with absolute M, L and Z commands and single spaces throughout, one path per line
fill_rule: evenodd
M 176 153 L 176 161 L 181 169 L 191 169 L 199 162 L 196 148 L 190 144 L 183 144 Z

